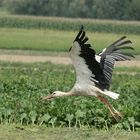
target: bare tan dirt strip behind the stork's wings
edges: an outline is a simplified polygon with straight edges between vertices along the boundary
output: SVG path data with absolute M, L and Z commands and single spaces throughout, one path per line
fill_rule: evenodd
M 9 62 L 52 62 L 54 64 L 72 64 L 68 56 L 40 56 L 40 55 L 22 55 L 22 54 L 0 54 L 0 61 Z M 116 66 L 140 67 L 140 61 L 133 59 L 131 61 L 117 62 Z

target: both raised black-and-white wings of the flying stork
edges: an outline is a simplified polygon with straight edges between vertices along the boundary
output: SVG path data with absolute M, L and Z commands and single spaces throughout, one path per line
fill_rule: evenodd
M 133 57 L 133 55 L 122 51 L 133 49 L 128 45 L 131 41 L 124 41 L 125 38 L 120 38 L 96 54 L 91 45 L 86 43 L 88 37 L 82 26 L 69 50 L 70 58 L 76 70 L 76 83 L 82 86 L 91 84 L 102 90 L 108 89 L 115 61 L 130 60 L 130 57 Z

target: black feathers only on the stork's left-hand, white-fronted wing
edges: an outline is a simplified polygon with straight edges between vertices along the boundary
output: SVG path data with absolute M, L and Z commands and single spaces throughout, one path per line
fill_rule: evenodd
M 90 44 L 86 44 L 88 41 L 88 37 L 86 36 L 83 27 L 80 29 L 78 35 L 76 36 L 75 40 L 80 45 L 81 52 L 80 57 L 85 60 L 86 65 L 88 66 L 89 70 L 92 72 L 94 77 L 91 76 L 91 81 L 95 83 L 95 85 L 102 90 L 105 89 L 105 76 L 103 71 L 100 67 L 100 63 L 98 63 L 95 59 L 95 50 L 91 48 Z

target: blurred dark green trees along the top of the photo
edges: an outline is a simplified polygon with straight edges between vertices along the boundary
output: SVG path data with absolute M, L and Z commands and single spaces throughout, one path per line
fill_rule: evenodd
M 140 20 L 139 0 L 1 0 L 11 13 Z

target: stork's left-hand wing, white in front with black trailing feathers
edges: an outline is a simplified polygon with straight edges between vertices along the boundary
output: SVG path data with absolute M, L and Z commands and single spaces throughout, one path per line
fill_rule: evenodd
M 82 27 L 69 52 L 76 70 L 76 82 L 83 86 L 92 84 L 104 89 L 105 76 L 95 59 L 95 51 L 86 43 L 87 41 L 88 37 Z

